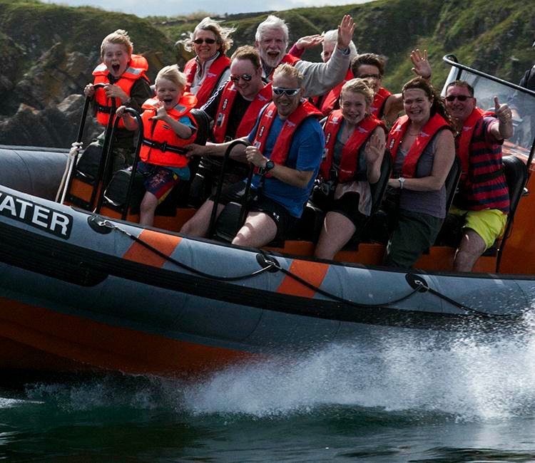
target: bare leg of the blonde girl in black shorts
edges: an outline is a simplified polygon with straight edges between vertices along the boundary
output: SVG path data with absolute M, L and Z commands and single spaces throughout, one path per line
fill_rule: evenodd
M 327 212 L 314 255 L 320 259 L 333 259 L 347 241 L 350 241 L 355 230 L 353 222 L 344 215 Z

